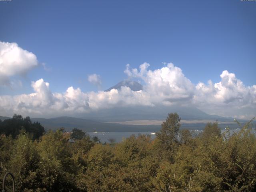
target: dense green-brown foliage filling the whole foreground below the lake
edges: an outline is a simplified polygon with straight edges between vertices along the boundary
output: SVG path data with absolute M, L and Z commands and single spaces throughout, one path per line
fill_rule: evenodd
M 208 123 L 198 136 L 180 130 L 179 122 L 169 114 L 156 139 L 133 135 L 111 144 L 78 129 L 72 142 L 63 128 L 39 140 L 26 129 L 2 134 L 0 176 L 12 172 L 24 192 L 256 191 L 252 122 L 234 134 Z

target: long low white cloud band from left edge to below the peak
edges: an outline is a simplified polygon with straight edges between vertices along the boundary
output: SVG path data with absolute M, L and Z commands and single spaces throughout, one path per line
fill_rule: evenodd
M 17 96 L 0 96 L 3 114 L 14 113 L 30 116 L 70 115 L 87 113 L 115 106 L 150 105 L 142 91 L 134 92 L 128 87 L 110 92 L 84 93 L 80 88 L 67 88 L 64 93 L 52 93 L 50 84 L 43 79 L 31 83 L 34 93 Z

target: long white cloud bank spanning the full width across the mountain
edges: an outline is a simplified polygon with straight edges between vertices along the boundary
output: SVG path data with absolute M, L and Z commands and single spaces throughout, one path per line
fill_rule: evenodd
M 149 70 L 149 64 L 139 69 L 126 66 L 130 78 L 144 82 L 144 90 L 132 91 L 128 87 L 109 92 L 82 92 L 80 88 L 67 88 L 66 92 L 53 93 L 50 84 L 43 79 L 32 82 L 32 94 L 0 96 L 2 115 L 14 113 L 30 116 L 60 116 L 89 113 L 92 111 L 130 106 L 183 105 L 196 106 L 209 114 L 236 118 L 256 116 L 256 85 L 245 86 L 235 74 L 223 71 L 220 82 L 207 84 L 192 82 L 182 70 L 172 63 Z M 89 78 L 90 77 L 90 78 Z M 99 84 L 99 76 L 93 74 L 88 80 Z

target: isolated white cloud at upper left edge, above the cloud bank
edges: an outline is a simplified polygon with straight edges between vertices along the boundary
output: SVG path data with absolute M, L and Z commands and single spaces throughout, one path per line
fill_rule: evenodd
M 10 85 L 10 77 L 26 74 L 38 65 L 32 52 L 16 43 L 0 42 L 0 85 Z

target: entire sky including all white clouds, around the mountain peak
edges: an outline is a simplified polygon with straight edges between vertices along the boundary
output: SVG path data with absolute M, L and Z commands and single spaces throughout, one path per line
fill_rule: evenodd
M 0 115 L 178 103 L 252 118 L 255 18 L 256 1 L 0 1 Z M 144 90 L 102 92 L 125 79 Z

